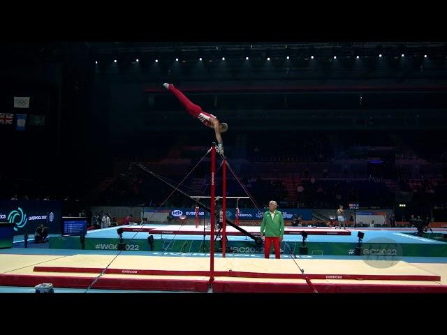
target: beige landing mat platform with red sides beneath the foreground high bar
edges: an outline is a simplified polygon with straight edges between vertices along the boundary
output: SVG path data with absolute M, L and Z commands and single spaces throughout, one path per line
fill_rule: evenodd
M 209 290 L 209 258 L 157 257 L 147 255 L 0 255 L 0 285 L 29 286 L 50 282 L 55 287 L 84 287 L 108 271 L 95 288 L 119 290 Z M 447 292 L 447 267 L 442 263 L 388 264 L 364 260 L 296 260 L 312 278 L 318 292 Z M 38 271 L 34 271 L 39 269 Z M 92 272 L 93 271 L 93 272 Z M 153 274 L 145 274 L 152 271 Z M 163 271 L 167 271 L 166 275 Z M 182 271 L 198 271 L 197 273 Z M 216 292 L 309 292 L 309 285 L 291 259 L 215 258 L 213 290 Z M 126 273 L 123 273 L 126 272 Z M 243 272 L 241 276 L 235 273 Z M 233 274 L 232 274 L 233 273 Z M 192 275 L 182 275 L 192 274 Z M 251 276 L 295 278 L 250 278 Z M 299 276 L 297 276 L 299 275 Z M 323 277 L 321 277 L 323 275 Z M 357 279 L 346 276 L 359 276 Z M 359 280 L 368 275 L 386 276 L 380 280 Z M 326 276 L 332 276 L 330 278 Z M 333 276 L 340 276 L 334 278 Z M 389 276 L 389 277 L 387 277 Z M 421 276 L 425 280 L 406 280 Z M 433 280 L 431 276 L 440 277 Z M 392 278 L 393 280 L 388 280 Z M 403 278 L 403 279 L 402 279 Z M 413 279 L 418 277 L 413 277 Z

